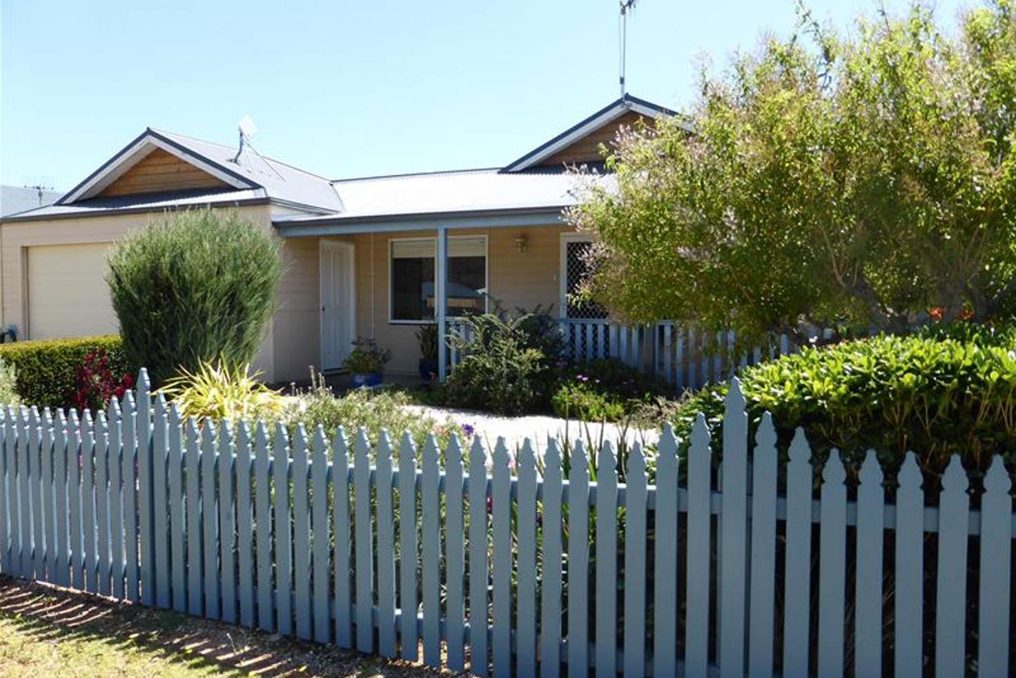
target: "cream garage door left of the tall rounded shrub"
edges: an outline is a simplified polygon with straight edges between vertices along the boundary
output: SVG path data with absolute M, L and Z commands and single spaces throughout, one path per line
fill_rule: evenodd
M 106 285 L 110 243 L 28 248 L 31 338 L 117 331 Z

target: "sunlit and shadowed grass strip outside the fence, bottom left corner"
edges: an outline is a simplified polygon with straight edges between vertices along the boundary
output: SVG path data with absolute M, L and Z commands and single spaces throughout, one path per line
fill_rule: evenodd
M 403 678 L 438 673 L 0 577 L 0 676 L 28 675 Z

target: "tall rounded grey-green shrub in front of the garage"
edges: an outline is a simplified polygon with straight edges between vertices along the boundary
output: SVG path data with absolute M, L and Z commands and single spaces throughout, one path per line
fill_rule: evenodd
M 178 211 L 120 242 L 108 282 L 124 352 L 154 385 L 257 354 L 281 276 L 277 240 L 235 211 Z

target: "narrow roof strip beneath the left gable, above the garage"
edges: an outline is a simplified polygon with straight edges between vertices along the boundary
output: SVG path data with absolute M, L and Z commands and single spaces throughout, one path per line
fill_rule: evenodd
M 60 219 L 63 217 L 87 217 L 99 212 L 130 213 L 134 211 L 242 204 L 259 201 L 268 201 L 264 189 L 261 188 L 250 188 L 239 191 L 232 189 L 195 189 L 190 191 L 173 191 L 170 193 L 138 193 L 136 195 L 88 198 L 87 200 L 79 200 L 70 204 L 51 204 L 5 217 L 4 221 L 16 222 Z

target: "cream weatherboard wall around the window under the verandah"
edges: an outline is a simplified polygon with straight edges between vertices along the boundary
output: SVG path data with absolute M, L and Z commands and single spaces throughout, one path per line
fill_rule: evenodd
M 561 233 L 568 227 L 553 225 L 520 229 L 469 229 L 451 235 L 487 236 L 488 289 L 507 310 L 554 306 L 557 312 Z M 526 253 L 520 254 L 515 238 L 524 234 Z M 357 280 L 357 333 L 374 336 L 391 349 L 388 371 L 415 374 L 420 360 L 417 329 L 423 323 L 390 322 L 388 242 L 398 238 L 433 237 L 433 232 L 368 234 L 355 237 Z M 491 302 L 493 309 L 493 301 Z

